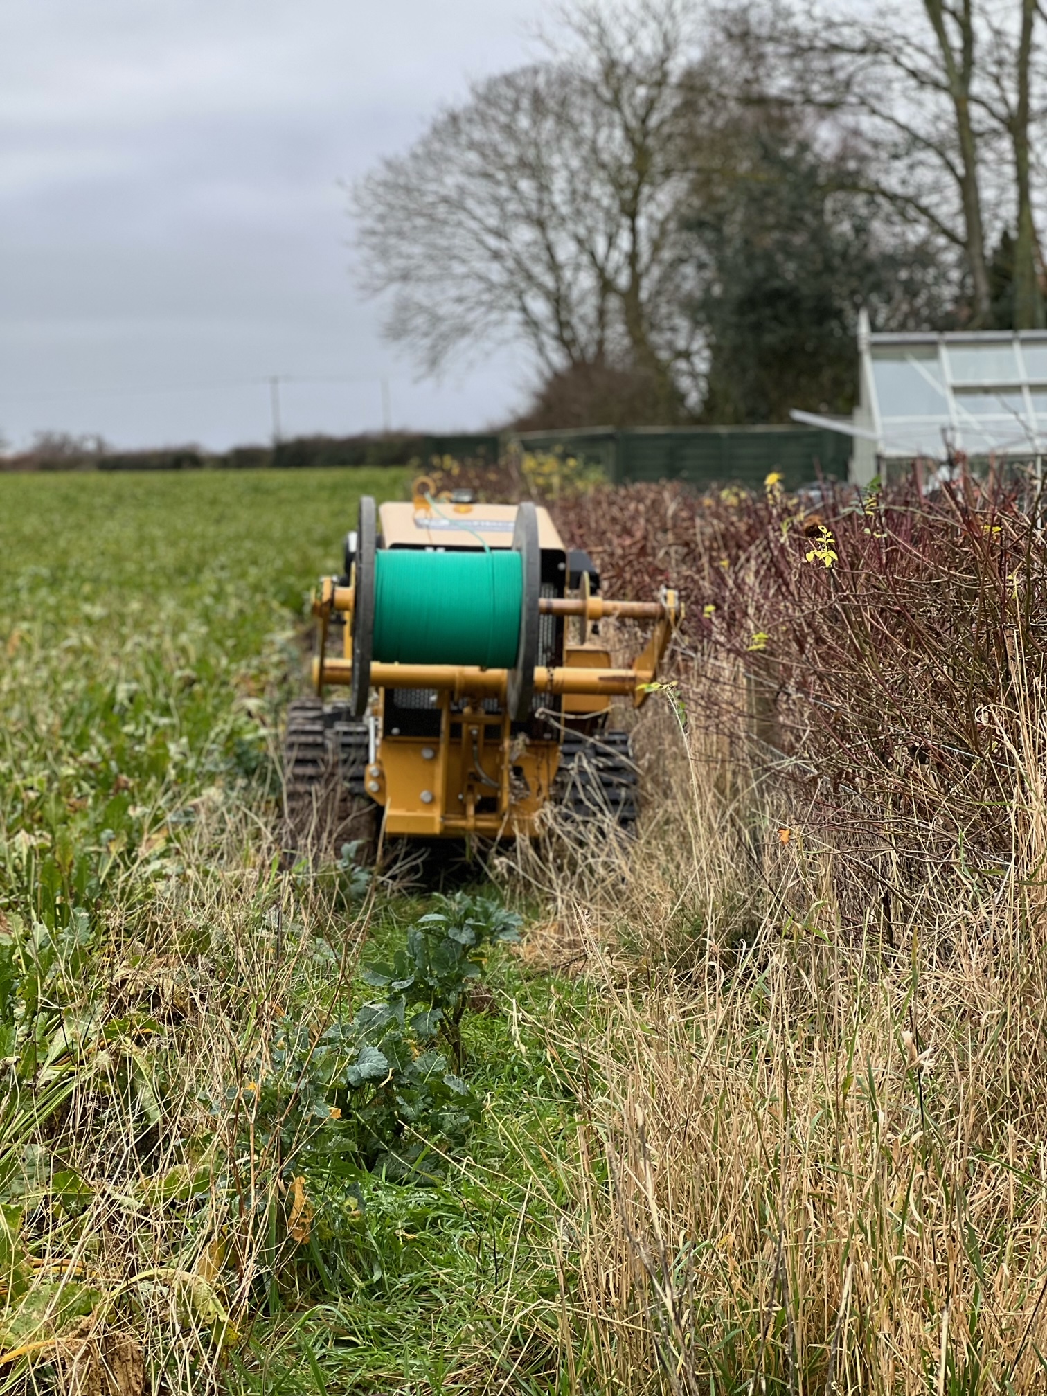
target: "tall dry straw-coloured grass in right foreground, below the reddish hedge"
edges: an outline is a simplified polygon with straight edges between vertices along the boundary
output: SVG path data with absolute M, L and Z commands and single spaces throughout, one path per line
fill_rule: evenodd
M 669 706 L 639 727 L 635 847 L 547 888 L 606 1004 L 572 1075 L 572 1390 L 1047 1389 L 1040 695 L 1008 719 L 1009 867 L 893 945 L 874 906 L 845 930 L 789 785 Z

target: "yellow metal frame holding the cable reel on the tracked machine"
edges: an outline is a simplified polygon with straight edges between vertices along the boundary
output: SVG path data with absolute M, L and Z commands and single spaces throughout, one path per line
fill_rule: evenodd
M 352 683 L 353 586 L 324 578 L 313 611 L 318 620 L 313 681 L 320 694 L 328 684 Z M 341 659 L 327 655 L 335 611 L 346 616 Z M 564 644 L 563 664 L 535 669 L 535 692 L 563 697 L 564 715 L 585 719 L 606 712 L 613 697 L 632 698 L 637 708 L 645 702 L 683 607 L 669 589 L 658 602 L 614 602 L 589 596 L 584 585 L 579 597 L 543 597 L 539 611 L 577 617 L 581 644 Z M 609 617 L 653 621 L 651 639 L 628 669 L 613 667 L 610 652 L 591 638 L 593 621 Z M 560 765 L 560 744 L 514 737 L 505 706 L 508 680 L 507 669 L 371 663 L 371 687 L 378 691 L 371 720 L 381 715 L 385 688 L 427 688 L 437 694 L 440 708 L 438 737 L 383 733 L 377 740 L 366 789 L 385 811 L 387 833 L 501 838 L 536 832 Z M 500 712 L 484 709 L 489 698 L 498 699 Z

